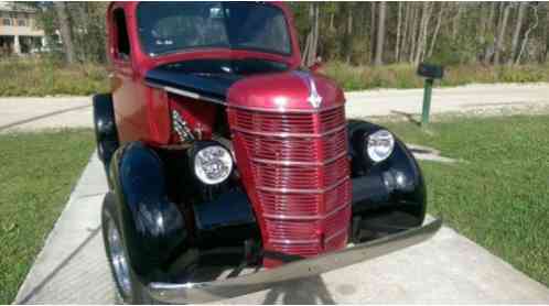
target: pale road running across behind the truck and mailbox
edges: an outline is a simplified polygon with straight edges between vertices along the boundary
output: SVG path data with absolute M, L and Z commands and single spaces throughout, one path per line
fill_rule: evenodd
M 431 113 L 549 112 L 549 84 L 471 85 L 433 90 Z M 349 91 L 349 117 L 421 113 L 422 89 Z M 0 98 L 0 132 L 44 128 L 92 128 L 92 98 Z

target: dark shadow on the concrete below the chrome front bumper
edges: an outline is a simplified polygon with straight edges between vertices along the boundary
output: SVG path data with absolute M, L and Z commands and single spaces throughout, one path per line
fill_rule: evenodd
M 321 276 L 311 276 L 273 286 L 263 304 L 335 304 Z

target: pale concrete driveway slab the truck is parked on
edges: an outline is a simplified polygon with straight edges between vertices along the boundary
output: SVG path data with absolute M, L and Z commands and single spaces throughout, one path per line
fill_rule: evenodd
M 18 304 L 112 304 L 100 233 L 107 190 L 94 154 L 17 296 Z M 549 303 L 549 289 L 454 230 L 345 269 L 222 304 Z

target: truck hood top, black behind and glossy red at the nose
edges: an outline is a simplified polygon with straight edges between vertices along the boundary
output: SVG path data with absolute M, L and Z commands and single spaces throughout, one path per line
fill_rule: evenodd
M 342 90 L 319 74 L 265 66 L 265 63 L 260 68 L 241 68 L 239 74 L 224 73 L 217 66 L 200 66 L 205 63 L 212 64 L 196 62 L 175 67 L 159 66 L 147 72 L 146 81 L 153 87 L 171 89 L 172 92 L 185 90 L 222 100 L 229 106 L 249 108 L 308 110 L 330 108 L 344 102 Z

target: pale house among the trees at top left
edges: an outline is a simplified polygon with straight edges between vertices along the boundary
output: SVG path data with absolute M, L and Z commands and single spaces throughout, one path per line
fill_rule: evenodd
M 36 13 L 36 9 L 24 3 L 0 2 L 0 55 L 31 54 L 45 45 Z

